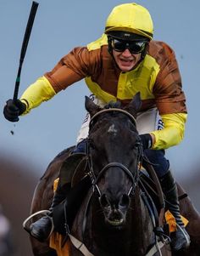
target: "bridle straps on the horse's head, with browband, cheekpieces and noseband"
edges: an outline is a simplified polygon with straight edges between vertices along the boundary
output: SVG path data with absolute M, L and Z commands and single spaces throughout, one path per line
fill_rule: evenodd
M 103 113 L 106 112 L 119 112 L 119 113 L 123 113 L 126 117 L 129 117 L 131 123 L 136 127 L 136 118 L 133 117 L 129 112 L 118 109 L 118 108 L 110 108 L 110 109 L 103 109 L 102 111 L 98 111 L 92 118 L 89 124 L 89 128 L 90 130 L 92 129 L 92 126 L 94 124 L 94 122 L 97 120 L 97 117 L 99 117 L 100 115 L 102 115 Z M 94 169 L 93 169 L 93 161 L 92 161 L 92 155 L 90 152 L 90 139 L 86 139 L 86 156 L 88 159 L 88 169 L 89 169 L 89 175 L 91 177 L 92 180 L 92 187 L 93 187 L 93 191 L 97 191 L 98 196 L 102 196 L 102 192 L 99 188 L 98 181 L 99 179 L 102 178 L 103 174 L 105 174 L 106 171 L 108 171 L 109 168 L 120 168 L 121 170 L 123 170 L 125 172 L 125 174 L 131 179 L 131 188 L 128 191 L 128 196 L 131 196 L 131 194 L 134 193 L 134 191 L 136 190 L 136 185 L 138 184 L 138 180 L 139 180 L 139 171 L 141 168 L 141 156 L 142 156 L 142 144 L 138 144 L 137 146 L 137 159 L 136 159 L 136 172 L 134 174 L 132 174 L 131 170 L 129 168 L 126 168 L 124 164 L 120 163 L 120 162 L 108 162 L 108 164 L 106 164 L 101 171 L 99 172 L 99 174 L 95 174 Z

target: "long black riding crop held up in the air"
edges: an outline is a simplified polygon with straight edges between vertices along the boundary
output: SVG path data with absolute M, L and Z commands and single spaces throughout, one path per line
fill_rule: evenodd
M 14 101 L 16 101 L 18 98 L 21 68 L 22 68 L 22 65 L 23 65 L 23 62 L 25 59 L 25 52 L 26 52 L 26 48 L 29 43 L 29 38 L 31 36 L 31 30 L 32 30 L 33 22 L 35 20 L 36 9 L 37 9 L 38 5 L 39 5 L 39 3 L 36 3 L 35 1 L 32 2 L 31 12 L 29 14 L 29 20 L 26 25 L 25 36 L 24 36 L 24 40 L 22 43 L 20 59 L 19 59 L 19 69 L 18 69 L 17 78 L 16 78 L 16 82 L 15 82 L 15 87 L 14 87 L 14 98 L 13 98 Z

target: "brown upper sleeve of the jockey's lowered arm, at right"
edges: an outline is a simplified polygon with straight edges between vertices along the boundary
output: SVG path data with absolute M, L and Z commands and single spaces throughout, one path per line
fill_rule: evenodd
M 160 71 L 153 87 L 159 113 L 186 113 L 186 97 L 182 90 L 181 74 L 174 51 L 159 42 L 158 64 Z

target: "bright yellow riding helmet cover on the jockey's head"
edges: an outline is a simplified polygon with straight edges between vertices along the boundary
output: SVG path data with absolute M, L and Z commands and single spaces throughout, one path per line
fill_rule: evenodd
M 149 40 L 153 38 L 153 20 L 148 10 L 137 3 L 120 4 L 111 11 L 106 21 L 105 33 L 131 32 Z

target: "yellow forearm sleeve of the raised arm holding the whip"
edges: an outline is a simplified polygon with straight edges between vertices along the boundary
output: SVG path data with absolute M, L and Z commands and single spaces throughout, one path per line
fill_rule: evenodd
M 50 100 L 56 94 L 51 83 L 46 77 L 40 77 L 32 83 L 22 94 L 20 100 L 25 103 L 26 110 L 23 115 L 29 113 L 31 109 L 41 105 L 43 101 Z

